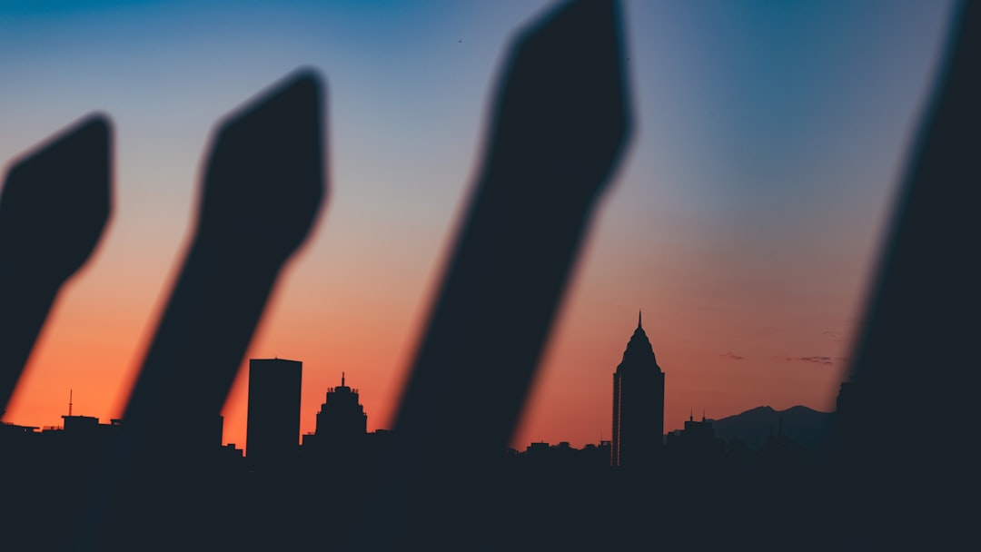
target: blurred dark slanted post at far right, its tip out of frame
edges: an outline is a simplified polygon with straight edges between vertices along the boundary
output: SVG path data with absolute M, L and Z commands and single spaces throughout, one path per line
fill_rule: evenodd
M 979 68 L 981 3 L 962 2 L 839 398 L 839 549 L 977 546 Z

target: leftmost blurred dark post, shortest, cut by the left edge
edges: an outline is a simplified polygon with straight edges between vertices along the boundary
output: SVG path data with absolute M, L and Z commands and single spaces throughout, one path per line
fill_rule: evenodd
M 112 128 L 89 115 L 13 163 L 0 195 L 0 416 L 62 285 L 112 211 Z

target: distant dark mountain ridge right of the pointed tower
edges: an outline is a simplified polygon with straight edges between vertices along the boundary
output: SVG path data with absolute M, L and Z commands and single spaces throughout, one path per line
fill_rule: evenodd
M 758 449 L 769 435 L 780 431 L 801 446 L 819 449 L 832 428 L 834 413 L 820 412 L 797 405 L 787 410 L 759 406 L 735 416 L 712 420 L 715 436 L 729 441 L 743 439 L 750 448 Z

